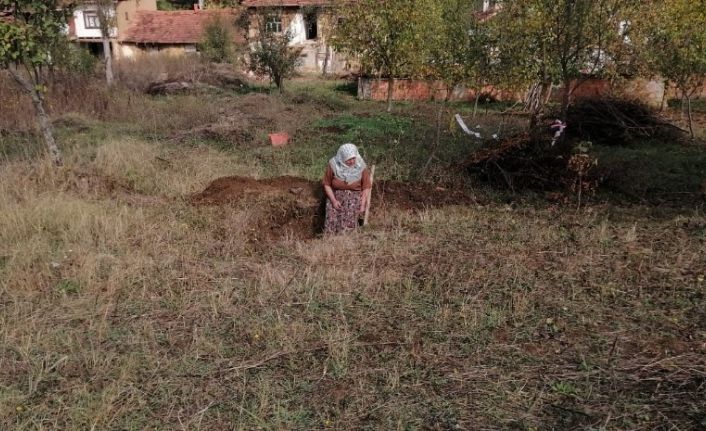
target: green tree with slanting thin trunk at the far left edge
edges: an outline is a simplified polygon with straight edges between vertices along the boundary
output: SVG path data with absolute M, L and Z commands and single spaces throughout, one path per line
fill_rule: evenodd
M 51 53 L 64 39 L 71 8 L 57 0 L 0 0 L 0 69 L 30 96 L 49 155 L 62 164 L 61 152 L 44 104 L 46 72 L 52 65 Z

